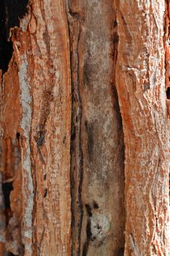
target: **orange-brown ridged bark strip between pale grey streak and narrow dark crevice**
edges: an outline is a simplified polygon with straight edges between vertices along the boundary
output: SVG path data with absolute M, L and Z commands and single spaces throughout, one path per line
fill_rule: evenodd
M 31 8 L 34 255 L 69 255 L 71 86 L 66 10 L 63 1 L 35 1 Z

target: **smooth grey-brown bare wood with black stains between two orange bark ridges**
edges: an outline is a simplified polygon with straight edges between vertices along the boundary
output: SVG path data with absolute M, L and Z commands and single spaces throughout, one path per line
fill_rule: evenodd
M 112 1 L 70 1 L 72 253 L 123 255 L 124 148 Z

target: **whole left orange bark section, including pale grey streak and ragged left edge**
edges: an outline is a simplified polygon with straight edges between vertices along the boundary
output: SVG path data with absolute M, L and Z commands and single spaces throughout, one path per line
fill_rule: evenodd
M 63 1 L 30 3 L 20 26 L 10 29 L 14 51 L 1 86 L 5 144 L 1 148 L 4 165 L 12 162 L 9 170 L 2 168 L 3 181 L 12 178 L 13 192 L 8 206 L 12 216 L 6 214 L 4 225 L 7 234 L 10 225 L 15 227 L 20 241 L 14 231 L 1 241 L 14 255 L 71 252 L 72 97 L 68 31 Z M 21 158 L 16 172 L 16 159 L 12 159 L 15 144 Z M 22 197 L 20 208 L 14 203 L 15 197 Z M 16 215 L 17 224 L 13 220 Z

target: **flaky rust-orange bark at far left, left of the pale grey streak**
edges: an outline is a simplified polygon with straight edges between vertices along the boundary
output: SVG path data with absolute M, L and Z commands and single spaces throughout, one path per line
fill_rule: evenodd
M 1 132 L 3 134 L 1 143 L 1 173 L 6 219 L 6 231 L 3 242 L 5 243 L 6 250 L 15 255 L 23 253 L 20 233 L 22 219 L 22 194 L 20 193 L 22 176 L 20 170 L 20 147 L 16 136 L 20 122 L 19 95 L 18 69 L 15 57 L 13 57 L 10 62 L 8 75 L 5 74 L 1 81 L 1 99 L 4 103 L 3 108 L 1 108 L 3 113 L 3 119 L 1 120 Z

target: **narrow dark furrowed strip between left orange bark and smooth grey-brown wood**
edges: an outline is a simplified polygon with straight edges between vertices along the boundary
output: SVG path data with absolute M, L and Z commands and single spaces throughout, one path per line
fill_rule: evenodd
M 79 15 L 70 10 L 67 5 L 67 17 L 69 26 L 70 64 L 72 82 L 72 131 L 71 131 L 71 197 L 72 197 L 72 255 L 80 255 L 81 229 L 82 229 L 82 145 L 81 145 L 81 122 L 82 102 L 80 97 L 79 80 L 79 42 L 80 21 Z M 74 20 L 74 22 L 72 22 Z

